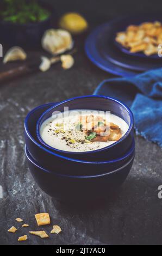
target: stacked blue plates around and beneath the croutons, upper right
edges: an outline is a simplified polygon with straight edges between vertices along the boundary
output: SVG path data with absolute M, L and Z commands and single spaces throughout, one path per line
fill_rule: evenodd
M 128 22 L 128 18 L 126 20 Z M 122 31 L 122 27 L 120 27 L 122 21 L 124 19 L 105 23 L 88 36 L 85 51 L 90 60 L 99 68 L 121 76 L 133 76 L 142 71 L 161 68 L 161 59 L 148 61 L 147 58 L 129 56 L 114 44 L 116 33 Z M 130 20 L 130 23 L 131 21 L 133 22 L 133 19 Z

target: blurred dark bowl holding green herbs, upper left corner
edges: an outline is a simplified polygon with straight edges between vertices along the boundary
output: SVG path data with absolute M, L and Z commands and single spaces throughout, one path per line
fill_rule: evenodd
M 51 28 L 56 19 L 56 14 L 52 5 L 41 1 L 40 4 L 51 12 L 48 19 L 44 21 L 19 24 L 0 20 L 0 42 L 4 47 L 17 45 L 33 48 L 38 45 L 41 46 L 42 35 L 47 29 Z

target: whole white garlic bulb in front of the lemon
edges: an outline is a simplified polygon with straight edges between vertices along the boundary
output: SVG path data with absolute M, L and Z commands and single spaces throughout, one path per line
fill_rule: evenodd
M 48 29 L 42 37 L 42 47 L 52 54 L 64 53 L 73 47 L 72 36 L 63 29 Z

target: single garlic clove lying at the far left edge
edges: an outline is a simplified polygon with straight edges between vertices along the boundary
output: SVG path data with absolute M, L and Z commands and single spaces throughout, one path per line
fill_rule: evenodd
M 3 63 L 13 62 L 14 60 L 24 60 L 27 58 L 26 52 L 21 47 L 11 47 L 7 53 L 5 53 Z

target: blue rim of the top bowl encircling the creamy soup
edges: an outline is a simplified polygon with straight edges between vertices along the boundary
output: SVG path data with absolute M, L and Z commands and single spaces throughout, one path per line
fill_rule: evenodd
M 112 100 L 112 101 L 115 101 L 116 103 L 119 103 L 120 105 L 122 105 L 126 111 L 128 112 L 129 116 L 130 116 L 130 125 L 129 125 L 129 128 L 128 128 L 128 131 L 121 137 L 121 139 L 119 139 L 119 141 L 116 141 L 114 142 L 113 144 L 109 145 L 108 147 L 104 147 L 104 148 L 101 148 L 101 149 L 97 149 L 97 150 L 91 150 L 91 151 L 85 151 L 85 152 L 71 152 L 71 151 L 64 151 L 64 150 L 60 150 L 60 149 L 56 149 L 56 148 L 53 148 L 51 146 L 49 146 L 48 144 L 46 144 L 41 136 L 40 136 L 40 123 L 41 123 L 41 120 L 43 117 L 45 117 L 46 114 L 48 114 L 48 112 L 50 112 L 52 109 L 54 109 L 55 107 L 58 107 L 66 102 L 71 102 L 73 100 L 77 100 L 77 99 L 85 99 L 85 98 L 92 98 L 92 97 L 97 97 L 97 98 L 104 98 L 104 99 L 108 99 L 108 100 Z M 109 148 L 112 148 L 114 147 L 115 145 L 119 144 L 120 142 L 123 141 L 123 139 L 125 139 L 130 131 L 132 130 L 132 127 L 134 125 L 134 117 L 133 117 L 133 113 L 132 111 L 126 106 L 124 105 L 124 103 L 122 103 L 121 101 L 119 100 L 116 100 L 114 99 L 113 97 L 108 97 L 108 96 L 102 96 L 102 95 L 87 95 L 87 96 L 79 96 L 79 97 L 73 97 L 71 99 L 68 99 L 68 100 L 65 100 L 65 101 L 61 101 L 60 103 L 57 103 L 56 105 L 52 106 L 51 108 L 47 109 L 42 115 L 41 117 L 38 119 L 38 122 L 36 124 L 36 136 L 38 137 L 39 141 L 47 148 L 51 149 L 51 150 L 55 150 L 57 152 L 59 152 L 60 154 L 61 153 L 65 153 L 65 154 L 70 154 L 70 155 L 82 155 L 82 154 L 93 154 L 93 153 L 98 153 L 98 152 L 101 152 L 101 151 L 104 151 L 106 149 L 109 149 Z

